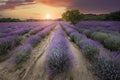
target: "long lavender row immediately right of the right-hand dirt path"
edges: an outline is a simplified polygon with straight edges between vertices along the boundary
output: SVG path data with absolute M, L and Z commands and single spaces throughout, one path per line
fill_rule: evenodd
M 93 69 L 102 80 L 120 79 L 120 54 L 119 52 L 106 51 L 97 41 L 91 40 L 84 34 L 80 34 L 70 25 L 64 24 L 64 30 L 93 63 Z

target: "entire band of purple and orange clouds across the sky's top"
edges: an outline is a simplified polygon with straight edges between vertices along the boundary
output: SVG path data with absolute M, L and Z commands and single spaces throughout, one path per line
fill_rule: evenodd
M 120 10 L 120 0 L 8 0 L 5 5 L 0 5 L 0 10 L 14 9 L 16 6 L 30 5 L 34 2 L 55 7 L 79 9 L 84 13 L 107 13 Z

